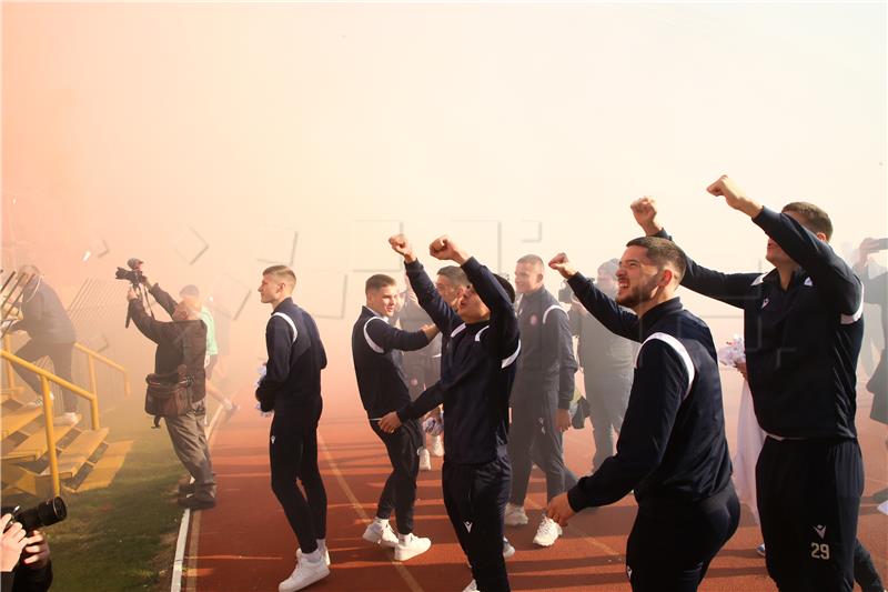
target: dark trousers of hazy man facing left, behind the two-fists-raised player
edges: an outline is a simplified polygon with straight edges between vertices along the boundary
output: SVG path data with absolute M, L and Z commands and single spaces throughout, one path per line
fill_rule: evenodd
M 546 475 L 546 499 L 552 500 L 564 493 L 564 448 L 562 432 L 555 425 L 554 407 L 546 408 L 545 412 L 524 404 L 516 404 L 512 409 L 508 458 L 512 461 L 508 501 L 513 504 L 524 505 L 534 461 Z

